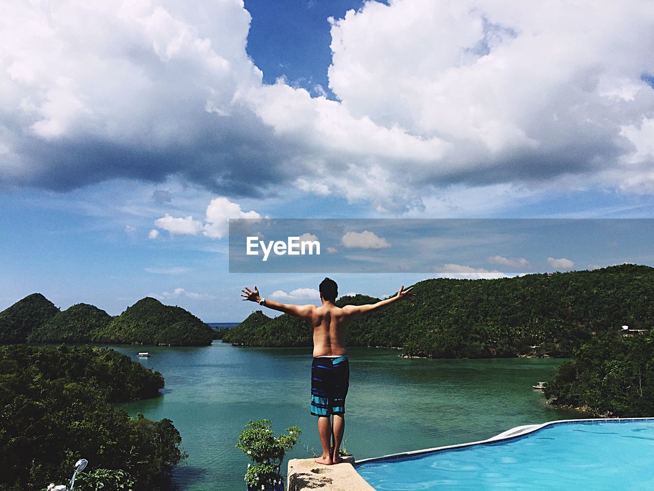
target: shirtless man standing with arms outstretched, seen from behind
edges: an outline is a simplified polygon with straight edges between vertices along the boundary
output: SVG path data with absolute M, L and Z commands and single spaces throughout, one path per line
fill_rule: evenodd
M 345 396 L 349 388 L 350 366 L 345 350 L 347 328 L 354 319 L 372 314 L 375 310 L 392 304 L 405 297 L 411 288 L 400 291 L 395 297 L 368 305 L 346 305 L 337 307 L 334 302 L 338 297 L 338 286 L 334 280 L 325 278 L 320 283 L 321 306 L 290 305 L 260 297 L 254 287 L 245 287 L 243 300 L 279 310 L 290 316 L 303 319 L 313 327 L 313 364 L 311 365 L 311 414 L 318 416 L 318 434 L 322 445 L 322 456 L 316 459 L 318 464 L 339 464 L 341 458 L 338 450 L 345 431 Z M 334 424 L 330 420 L 334 418 Z M 332 442 L 330 442 L 332 440 Z M 334 446 L 330 451 L 330 443 Z

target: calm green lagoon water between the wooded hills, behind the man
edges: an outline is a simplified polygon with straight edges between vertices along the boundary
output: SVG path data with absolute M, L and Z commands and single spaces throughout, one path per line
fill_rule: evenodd
M 137 359 L 143 346 L 112 346 Z M 300 445 L 290 458 L 318 450 L 309 414 L 309 348 L 236 348 L 214 341 L 202 348 L 148 346 L 139 359 L 165 377 L 162 397 L 122 405 L 129 414 L 170 418 L 190 455 L 173 474 L 184 491 L 245 489 L 249 460 L 234 448 L 248 420 L 297 425 Z M 511 427 L 580 418 L 545 405 L 532 384 L 547 380 L 560 359 L 405 359 L 398 350 L 349 349 L 345 446 L 368 458 L 486 439 Z M 284 466 L 284 474 L 286 472 Z

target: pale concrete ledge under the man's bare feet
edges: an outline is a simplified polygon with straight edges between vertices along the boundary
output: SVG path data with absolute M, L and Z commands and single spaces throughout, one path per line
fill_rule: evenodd
M 375 491 L 352 464 L 354 457 L 343 457 L 341 464 L 334 465 L 316 464 L 313 459 L 289 460 L 288 491 Z

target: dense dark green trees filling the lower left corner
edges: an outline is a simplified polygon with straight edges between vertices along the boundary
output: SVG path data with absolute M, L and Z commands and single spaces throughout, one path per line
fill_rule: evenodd
M 67 482 L 82 457 L 86 471 L 122 469 L 135 489 L 158 489 L 185 458 L 179 431 L 170 420 L 130 418 L 111 401 L 162 386 L 161 374 L 112 350 L 0 346 L 0 490 Z

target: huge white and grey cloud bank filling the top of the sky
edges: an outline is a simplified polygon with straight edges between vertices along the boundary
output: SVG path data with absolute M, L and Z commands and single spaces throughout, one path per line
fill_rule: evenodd
M 294 186 L 379 213 L 421 210 L 452 185 L 577 178 L 654 192 L 647 2 L 368 1 L 331 22 L 337 101 L 262 83 L 241 0 L 10 0 L 0 183 L 174 175 L 220 195 Z M 203 233 L 222 236 L 214 223 Z

